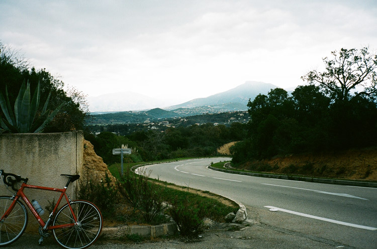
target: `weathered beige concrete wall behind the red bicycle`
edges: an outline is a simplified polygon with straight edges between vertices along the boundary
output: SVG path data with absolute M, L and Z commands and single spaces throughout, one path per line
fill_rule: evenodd
M 0 135 L 0 169 L 29 178 L 28 184 L 63 188 L 67 177 L 60 174 L 80 174 L 84 149 L 82 132 L 26 133 Z M 75 198 L 77 181 L 67 189 Z M 13 190 L 12 190 L 13 191 Z M 58 199 L 59 193 L 45 190 L 26 189 L 29 200 L 38 200 L 44 208 L 48 200 Z M 0 181 L 0 195 L 12 195 Z M 44 208 L 45 209 L 45 208 Z M 48 217 L 45 210 L 42 216 Z M 31 214 L 29 212 L 29 214 Z M 36 221 L 29 215 L 29 225 Z

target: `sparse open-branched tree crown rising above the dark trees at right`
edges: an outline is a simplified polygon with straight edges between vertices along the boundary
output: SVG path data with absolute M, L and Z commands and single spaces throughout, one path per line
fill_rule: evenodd
M 377 55 L 368 48 L 340 49 L 331 52 L 333 59 L 323 58 L 325 72 L 310 71 L 301 78 L 318 85 L 333 101 L 347 101 L 354 96 L 377 97 Z

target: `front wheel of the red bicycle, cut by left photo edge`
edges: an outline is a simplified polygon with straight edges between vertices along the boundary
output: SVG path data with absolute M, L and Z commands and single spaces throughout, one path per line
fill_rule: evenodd
M 3 216 L 12 204 L 11 196 L 0 196 L 0 215 Z M 0 217 L 1 218 L 1 217 Z M 28 212 L 20 200 L 6 219 L 0 221 L 0 246 L 15 242 L 24 233 L 28 224 Z

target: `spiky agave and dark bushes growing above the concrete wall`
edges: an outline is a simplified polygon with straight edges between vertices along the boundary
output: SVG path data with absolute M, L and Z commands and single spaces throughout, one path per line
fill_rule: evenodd
M 18 51 L 1 42 L 0 75 L 0 134 L 84 128 L 85 95 L 73 87 L 63 90 L 58 77 L 30 66 Z

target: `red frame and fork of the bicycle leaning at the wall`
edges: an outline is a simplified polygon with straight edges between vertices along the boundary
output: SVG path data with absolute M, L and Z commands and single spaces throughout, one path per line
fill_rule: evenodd
M 46 223 L 43 221 L 43 219 L 41 218 L 41 216 L 39 216 L 39 214 L 37 213 L 37 211 L 35 210 L 35 208 L 31 204 L 31 202 L 29 201 L 28 197 L 25 195 L 25 193 L 24 193 L 24 189 L 25 188 L 41 189 L 41 190 L 54 191 L 54 192 L 60 192 L 61 193 L 58 201 L 56 202 L 54 210 L 49 215 L 49 219 L 48 219 L 48 221 Z M 65 193 L 66 190 L 67 190 L 67 187 L 64 187 L 64 188 L 51 188 L 51 187 L 28 185 L 25 182 L 23 182 L 22 185 L 21 185 L 21 187 L 20 187 L 20 189 L 17 191 L 16 195 L 14 195 L 14 200 L 13 200 L 12 204 L 9 206 L 8 210 L 4 213 L 3 217 L 1 217 L 0 220 L 3 220 L 4 218 L 8 217 L 8 215 L 11 213 L 11 211 L 15 207 L 16 201 L 21 197 L 21 199 L 24 200 L 25 204 L 29 207 L 30 211 L 33 213 L 34 217 L 36 218 L 36 220 L 38 221 L 38 223 L 41 225 L 41 227 L 43 227 L 44 230 L 52 230 L 52 229 L 66 228 L 66 227 L 74 226 L 77 223 L 77 217 L 76 217 L 75 213 L 73 212 L 72 207 L 70 205 L 70 201 L 71 200 L 70 200 L 69 196 Z M 59 204 L 60 204 L 61 200 L 63 199 L 63 196 L 65 197 L 65 200 L 68 203 L 69 209 L 71 211 L 71 214 L 72 214 L 72 217 L 73 217 L 75 223 L 64 224 L 64 225 L 48 226 L 48 223 L 51 220 L 51 218 L 54 216 L 56 210 L 58 209 Z

